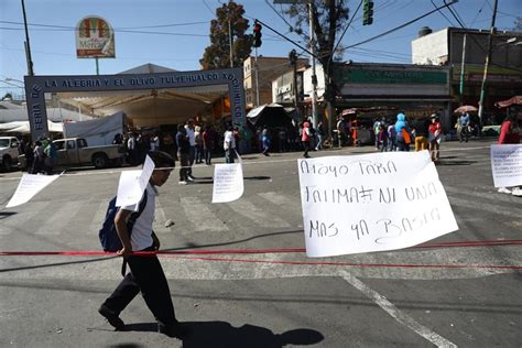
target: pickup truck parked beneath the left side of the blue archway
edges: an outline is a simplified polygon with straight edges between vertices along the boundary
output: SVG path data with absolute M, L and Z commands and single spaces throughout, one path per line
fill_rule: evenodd
M 58 167 L 94 165 L 97 168 L 124 163 L 123 145 L 88 146 L 84 138 L 68 138 L 53 141 L 58 154 Z

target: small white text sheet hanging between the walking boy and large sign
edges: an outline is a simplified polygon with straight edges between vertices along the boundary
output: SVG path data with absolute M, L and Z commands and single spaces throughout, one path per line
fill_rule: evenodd
M 214 167 L 213 203 L 239 199 L 244 192 L 242 161 L 239 163 L 216 164 Z

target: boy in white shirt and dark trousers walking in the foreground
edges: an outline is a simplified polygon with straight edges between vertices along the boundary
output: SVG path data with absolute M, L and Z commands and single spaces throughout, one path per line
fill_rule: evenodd
M 156 251 L 160 249 L 160 240 L 152 231 L 155 196 L 157 194 L 155 187 L 162 186 L 168 180 L 174 166 L 174 160 L 165 152 L 151 151 L 149 156 L 157 170 L 152 173 L 143 194 L 142 200 L 146 200 L 144 208 L 141 209 L 142 214 L 132 227 L 132 233 L 128 229 L 127 221 L 142 202 L 132 206 L 122 206 L 115 218 L 118 237 L 123 244 L 118 254 L 126 258 L 130 272 L 104 302 L 98 312 L 117 330 L 122 330 L 124 329 L 124 323 L 119 315 L 141 292 L 146 306 L 157 320 L 157 330 L 171 337 L 182 338 L 186 334 L 186 329 L 176 319 L 168 283 L 157 257 L 155 254 L 146 257 L 133 254 L 134 251 Z M 165 168 L 162 170 L 162 167 Z

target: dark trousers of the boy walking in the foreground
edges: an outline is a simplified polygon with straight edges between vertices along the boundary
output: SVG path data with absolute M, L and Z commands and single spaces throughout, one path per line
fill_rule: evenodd
M 146 306 L 160 324 L 177 323 L 168 283 L 156 257 L 128 257 L 131 269 L 115 292 L 104 303 L 120 314 L 141 291 Z

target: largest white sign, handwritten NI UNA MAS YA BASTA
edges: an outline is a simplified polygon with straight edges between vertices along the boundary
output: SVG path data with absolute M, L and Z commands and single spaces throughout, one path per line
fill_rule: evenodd
M 298 160 L 306 254 L 407 248 L 458 229 L 427 151 Z

